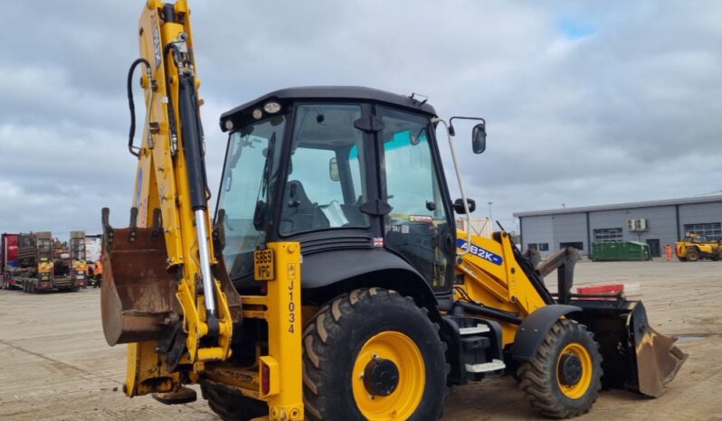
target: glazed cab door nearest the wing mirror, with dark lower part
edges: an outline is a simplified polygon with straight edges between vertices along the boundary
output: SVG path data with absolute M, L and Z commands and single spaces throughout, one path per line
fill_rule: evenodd
M 453 276 L 455 230 L 448 193 L 428 117 L 376 107 L 382 196 L 391 206 L 384 217 L 385 247 L 404 257 L 435 292 L 448 291 Z

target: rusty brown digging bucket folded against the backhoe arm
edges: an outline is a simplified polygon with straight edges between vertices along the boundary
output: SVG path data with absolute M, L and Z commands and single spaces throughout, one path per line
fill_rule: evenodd
M 100 308 L 105 340 L 117 343 L 160 340 L 182 313 L 176 279 L 166 270 L 161 229 L 111 229 L 104 213 L 103 279 Z M 131 221 L 133 219 L 131 218 Z

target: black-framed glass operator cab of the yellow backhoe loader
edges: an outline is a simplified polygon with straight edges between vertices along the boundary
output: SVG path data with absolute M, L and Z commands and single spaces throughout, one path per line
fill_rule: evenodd
M 450 292 L 454 205 L 434 118 L 425 100 L 356 87 L 282 89 L 223 114 L 216 224 L 234 283 L 253 285 L 256 248 L 299 241 L 304 287 L 371 260 Z

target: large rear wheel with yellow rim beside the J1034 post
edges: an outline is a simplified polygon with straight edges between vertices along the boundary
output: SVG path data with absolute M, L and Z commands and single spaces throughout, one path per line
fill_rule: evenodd
M 309 420 L 436 420 L 447 364 L 439 326 L 413 299 L 356 289 L 321 308 L 304 330 Z

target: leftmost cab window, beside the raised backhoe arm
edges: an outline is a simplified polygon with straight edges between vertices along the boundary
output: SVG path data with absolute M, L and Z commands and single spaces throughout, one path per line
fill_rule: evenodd
M 232 279 L 252 274 L 253 250 L 265 242 L 285 121 L 257 121 L 229 139 L 218 211 L 225 213 L 223 257 Z

